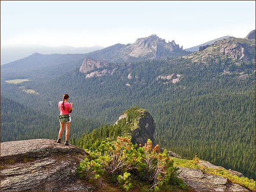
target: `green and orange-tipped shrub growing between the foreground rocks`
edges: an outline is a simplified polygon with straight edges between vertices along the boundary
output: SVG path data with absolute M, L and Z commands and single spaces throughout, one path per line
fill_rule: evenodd
M 150 185 L 148 189 L 155 191 L 172 185 L 185 189 L 167 151 L 161 153 L 159 145 L 153 147 L 149 139 L 144 146 L 137 147 L 131 138 L 117 137 L 115 142 L 102 141 L 95 151 L 87 153 L 91 160 L 84 159 L 77 170 L 79 177 L 86 180 L 101 176 L 126 191 L 138 182 Z

